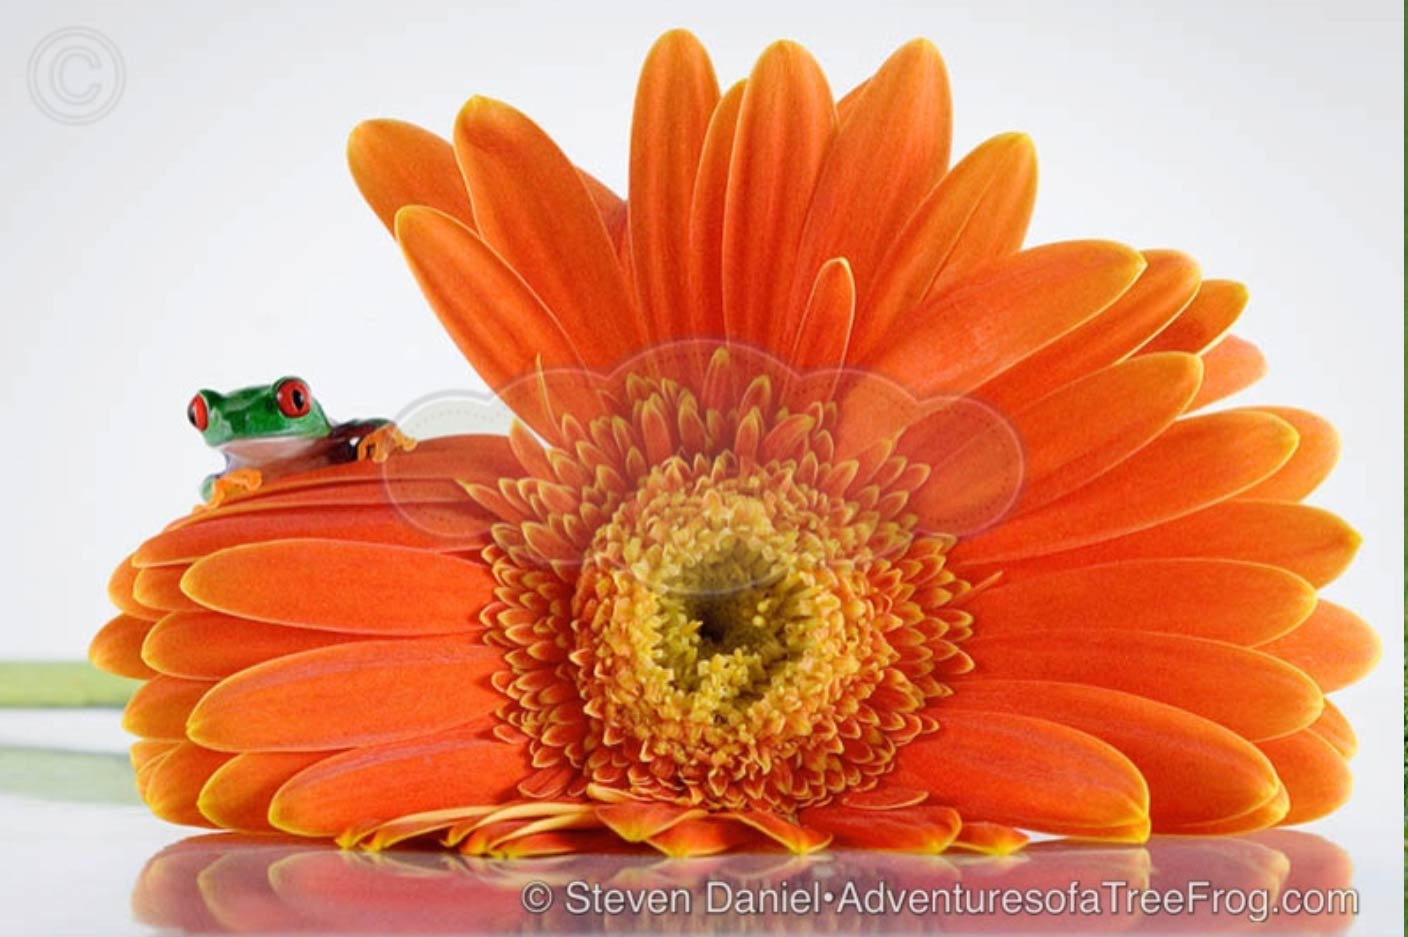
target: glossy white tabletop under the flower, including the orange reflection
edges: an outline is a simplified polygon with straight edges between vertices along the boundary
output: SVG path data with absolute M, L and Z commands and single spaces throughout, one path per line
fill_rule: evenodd
M 1145 847 L 1039 843 L 1007 858 L 748 854 L 670 861 L 579 855 L 490 861 L 376 855 L 204 834 L 135 803 L 115 712 L 0 713 L 0 933 L 1400 933 L 1395 876 L 1353 868 L 1356 844 L 1314 833 L 1167 838 Z M 1397 830 L 1385 829 L 1387 837 Z M 1246 909 L 1146 913 L 1128 889 L 1236 889 Z M 1205 885 L 1197 885 L 1204 882 Z M 1073 885 L 1074 899 L 1062 898 Z M 1290 917 L 1291 892 L 1360 889 L 1360 914 Z M 525 892 L 525 889 L 529 889 Z M 1191 891 L 1190 891 L 1191 889 Z M 527 900 L 551 907 L 534 913 Z M 1039 899 L 1004 899 L 1002 895 Z M 1098 913 L 1090 913 L 1091 895 Z M 527 898 L 525 898 L 527 895 Z M 1118 895 L 1118 896 L 1117 896 Z M 1055 913 L 1004 913 L 1032 900 Z M 1077 902 L 1062 910 L 1062 902 Z M 1257 900 L 1267 920 L 1257 926 Z M 658 914 L 631 913 L 655 902 Z M 948 903 L 945 903 L 948 902 Z M 995 910 L 980 906 L 990 902 Z M 646 905 L 649 906 L 649 905 Z M 984 913 L 977 913 L 983 910 Z

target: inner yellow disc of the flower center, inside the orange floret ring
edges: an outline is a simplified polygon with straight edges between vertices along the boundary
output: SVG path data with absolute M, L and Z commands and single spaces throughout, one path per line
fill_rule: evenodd
M 735 472 L 729 455 L 696 478 L 656 466 L 577 586 L 583 695 L 642 758 L 710 789 L 838 748 L 838 703 L 895 658 L 862 572 L 866 524 L 832 527 L 845 507 L 787 466 Z

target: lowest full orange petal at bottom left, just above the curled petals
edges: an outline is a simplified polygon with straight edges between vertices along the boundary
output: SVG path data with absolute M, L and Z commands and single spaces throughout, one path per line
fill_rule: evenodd
M 469 726 L 324 758 L 279 788 L 269 821 L 287 833 L 337 837 L 427 810 L 494 805 L 528 775 L 525 745 Z

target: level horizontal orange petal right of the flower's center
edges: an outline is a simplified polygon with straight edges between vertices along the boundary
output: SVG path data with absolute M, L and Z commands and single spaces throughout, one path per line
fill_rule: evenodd
M 1290 572 L 1228 559 L 1131 559 L 998 582 L 963 609 L 981 633 L 1042 628 L 1169 631 L 1253 645 L 1286 634 L 1315 607 Z M 1264 650 L 1264 648 L 1263 648 Z

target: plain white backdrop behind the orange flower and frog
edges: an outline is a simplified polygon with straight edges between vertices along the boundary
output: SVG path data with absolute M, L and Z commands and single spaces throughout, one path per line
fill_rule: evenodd
M 1343 434 L 1314 500 L 1364 547 L 1325 595 L 1385 654 L 1338 697 L 1362 734 L 1359 792 L 1315 829 L 1397 920 L 1401 4 L 61 1 L 3 21 L 0 655 L 83 654 L 111 566 L 217 465 L 184 423 L 196 387 L 296 372 L 348 418 L 479 386 L 352 186 L 358 120 L 448 134 L 486 93 L 622 190 L 636 70 L 663 30 L 693 28 L 724 83 L 767 41 L 800 39 L 838 93 L 926 35 L 949 63 L 956 154 L 1035 138 L 1032 241 L 1177 247 L 1242 279 L 1239 334 L 1271 364 L 1245 399 Z M 89 125 L 45 117 L 24 82 L 31 51 L 72 25 L 125 63 L 121 100 Z

